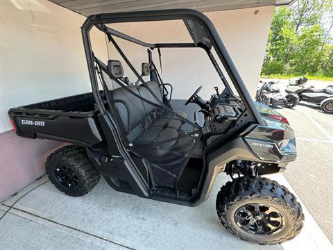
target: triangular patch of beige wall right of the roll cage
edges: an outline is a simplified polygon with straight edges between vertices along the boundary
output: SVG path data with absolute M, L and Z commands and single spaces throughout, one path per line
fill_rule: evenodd
M 221 15 L 208 13 L 253 97 L 262 70 L 273 10 L 274 6 L 266 6 L 228 10 Z

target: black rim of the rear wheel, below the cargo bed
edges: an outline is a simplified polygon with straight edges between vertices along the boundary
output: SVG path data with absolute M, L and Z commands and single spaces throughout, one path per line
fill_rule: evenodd
M 65 165 L 58 165 L 53 169 L 58 182 L 65 188 L 75 189 L 78 188 L 78 176 L 71 167 Z

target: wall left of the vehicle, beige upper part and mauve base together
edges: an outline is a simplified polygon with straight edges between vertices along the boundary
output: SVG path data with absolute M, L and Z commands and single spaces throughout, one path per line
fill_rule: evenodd
M 0 17 L 1 201 L 39 177 L 60 146 L 17 137 L 8 109 L 91 89 L 80 35 L 85 17 L 46 0 L 0 1 Z M 105 54 L 104 36 L 92 39 Z

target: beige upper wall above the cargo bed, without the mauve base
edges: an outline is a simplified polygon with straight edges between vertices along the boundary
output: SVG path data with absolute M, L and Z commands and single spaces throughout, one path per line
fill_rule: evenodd
M 0 133 L 12 128 L 9 108 L 91 91 L 85 17 L 46 0 L 1 0 L 0 17 Z M 105 54 L 104 36 L 92 38 Z

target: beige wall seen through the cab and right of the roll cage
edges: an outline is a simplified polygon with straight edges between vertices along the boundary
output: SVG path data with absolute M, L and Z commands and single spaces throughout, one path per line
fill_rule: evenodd
M 244 83 L 254 97 L 271 26 L 273 6 L 205 14 L 214 23 Z M 191 42 L 182 21 L 112 24 L 110 27 L 144 42 Z M 133 65 L 139 69 L 140 63 L 147 60 L 146 49 L 127 41 L 118 42 L 133 61 Z M 154 61 L 160 69 L 156 52 Z M 121 58 L 111 46 L 109 53 L 110 58 Z M 187 99 L 199 85 L 204 87 L 200 95 L 207 99 L 214 93 L 214 85 L 221 85 L 210 59 L 201 49 L 162 49 L 162 65 L 164 82 L 173 85 L 175 99 Z M 135 76 L 126 65 L 124 71 L 126 76 L 135 81 Z

